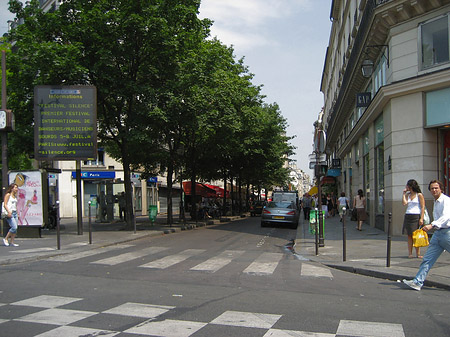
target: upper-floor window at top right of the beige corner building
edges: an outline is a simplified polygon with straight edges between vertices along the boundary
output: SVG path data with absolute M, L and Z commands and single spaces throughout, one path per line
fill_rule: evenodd
M 422 69 L 449 61 L 448 16 L 420 26 Z

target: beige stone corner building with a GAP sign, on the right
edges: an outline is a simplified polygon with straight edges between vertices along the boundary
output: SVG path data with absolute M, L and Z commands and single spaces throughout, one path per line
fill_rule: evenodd
M 322 73 L 328 161 L 338 190 L 367 196 L 369 224 L 401 234 L 402 190 L 449 191 L 449 0 L 334 0 Z M 336 161 L 338 162 L 338 161 Z

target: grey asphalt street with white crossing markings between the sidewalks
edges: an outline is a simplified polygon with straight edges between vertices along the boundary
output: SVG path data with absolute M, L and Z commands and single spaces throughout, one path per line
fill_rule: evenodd
M 3 266 L 0 336 L 448 336 L 450 292 L 329 269 L 260 217 Z

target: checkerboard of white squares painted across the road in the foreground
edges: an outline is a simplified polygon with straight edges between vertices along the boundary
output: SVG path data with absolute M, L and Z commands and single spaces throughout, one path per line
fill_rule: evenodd
M 118 335 L 194 337 L 223 335 L 226 327 L 233 335 L 251 334 L 264 337 L 288 336 L 373 336 L 405 337 L 402 324 L 338 320 L 337 328 L 328 332 L 287 330 L 281 319 L 286 314 L 224 310 L 215 315 L 187 320 L 174 305 L 146 302 L 117 302 L 96 307 L 83 305 L 85 298 L 40 294 L 8 302 L 0 291 L 0 329 L 2 336 L 76 337 Z M 86 303 L 86 302 L 84 302 Z M 80 309 L 83 308 L 83 309 Z M 167 313 L 170 317 L 164 317 Z M 31 327 L 33 328 L 32 334 Z M 309 328 L 309 329 L 308 329 Z M 323 328 L 321 329 L 323 330 Z M 263 335 L 264 334 L 264 335 Z

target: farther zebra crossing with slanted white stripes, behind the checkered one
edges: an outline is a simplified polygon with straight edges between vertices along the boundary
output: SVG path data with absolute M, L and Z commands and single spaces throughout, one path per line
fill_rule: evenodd
M 181 264 L 191 258 L 197 257 L 201 260 L 206 256 L 206 260 L 194 266 L 188 266 L 187 269 L 191 272 L 206 272 L 216 273 L 226 266 L 239 260 L 240 265 L 243 265 L 243 261 L 247 263 L 242 273 L 252 276 L 270 276 L 276 273 L 276 269 L 280 266 L 286 253 L 273 253 L 273 252 L 254 252 L 246 250 L 224 250 L 222 252 L 216 252 L 214 256 L 210 256 L 205 249 L 186 249 L 178 252 L 170 252 L 168 247 L 148 247 L 144 249 L 135 249 L 132 251 L 126 251 L 127 249 L 136 248 L 130 244 L 120 244 L 108 247 L 102 247 L 98 249 L 92 249 L 81 252 L 74 252 L 66 255 L 59 255 L 56 257 L 48 258 L 48 261 L 52 262 L 72 262 L 76 260 L 83 261 L 83 259 L 94 259 L 88 261 L 90 265 L 104 265 L 104 266 L 117 266 L 132 261 L 139 261 L 139 259 L 147 258 L 151 259 L 150 262 L 146 262 L 141 265 L 137 265 L 139 269 L 158 269 L 165 270 L 175 265 Z M 126 252 L 125 252 L 126 251 Z M 106 253 L 115 253 L 113 256 L 102 257 Z M 111 255 L 111 254 L 109 254 Z M 164 255 L 161 257 L 161 255 Z M 243 257 L 251 255 L 251 260 Z M 95 259 L 98 257 L 98 259 Z M 319 267 L 305 260 L 291 261 L 301 268 L 300 276 L 302 277 L 323 277 L 333 279 L 333 275 L 328 268 Z

